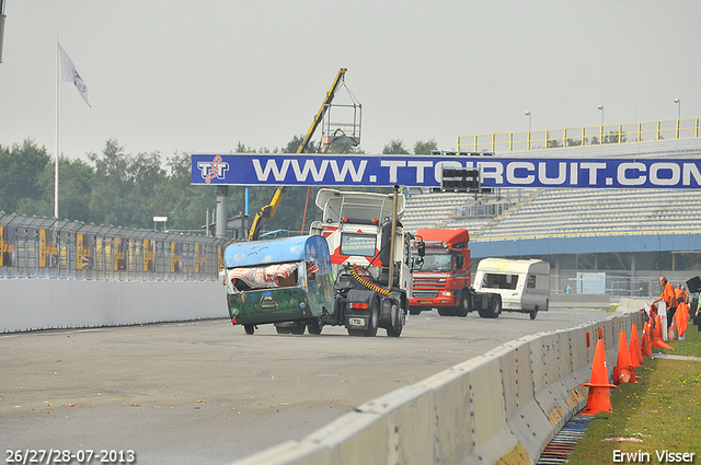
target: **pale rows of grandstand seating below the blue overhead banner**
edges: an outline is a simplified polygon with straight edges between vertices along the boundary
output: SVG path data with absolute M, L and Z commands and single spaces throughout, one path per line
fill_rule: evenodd
M 486 196 L 476 205 L 474 196 L 469 194 L 414 194 L 406 200 L 403 222 L 410 231 L 466 228 L 475 240 L 701 233 L 701 191 L 698 190 L 524 189 L 516 193 Z

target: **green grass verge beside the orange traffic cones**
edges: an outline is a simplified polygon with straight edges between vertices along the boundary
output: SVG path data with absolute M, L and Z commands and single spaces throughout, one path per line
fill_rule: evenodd
M 701 357 L 701 333 L 696 326 L 689 326 L 686 340 L 669 345 L 674 350 L 654 348 L 653 356 Z M 594 418 L 568 464 L 683 462 L 682 455 L 671 457 L 676 461 L 660 460 L 658 454 L 664 451 L 687 453 L 687 463 L 701 464 L 701 361 L 653 357 L 643 363 L 635 370 L 642 376 L 637 384 L 624 383 L 611 390 L 613 412 Z

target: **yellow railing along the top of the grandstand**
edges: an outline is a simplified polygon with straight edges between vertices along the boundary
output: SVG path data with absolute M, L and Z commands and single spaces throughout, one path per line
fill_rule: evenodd
M 558 147 L 694 139 L 701 133 L 700 120 L 700 118 L 667 119 L 581 128 L 458 136 L 458 151 L 514 152 Z

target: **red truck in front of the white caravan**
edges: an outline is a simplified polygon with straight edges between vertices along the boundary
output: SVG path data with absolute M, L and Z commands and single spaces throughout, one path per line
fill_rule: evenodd
M 416 244 L 425 247 L 424 264 L 414 271 L 409 312 L 437 309 L 441 316 L 467 316 L 478 311 L 481 317 L 496 318 L 502 313 L 497 293 L 475 292 L 470 275 L 470 234 L 466 229 L 416 231 Z

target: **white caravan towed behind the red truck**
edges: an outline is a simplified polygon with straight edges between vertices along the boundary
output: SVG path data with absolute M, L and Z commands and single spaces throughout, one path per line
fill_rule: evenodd
M 550 303 L 550 264 L 543 260 L 484 258 L 478 265 L 474 289 L 502 295 L 502 310 L 530 314 L 548 311 Z

